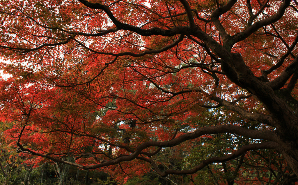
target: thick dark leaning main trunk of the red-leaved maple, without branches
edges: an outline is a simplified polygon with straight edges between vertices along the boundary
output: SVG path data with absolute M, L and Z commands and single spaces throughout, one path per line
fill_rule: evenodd
M 218 55 L 222 54 L 218 53 Z M 280 139 L 279 151 L 298 176 L 298 117 L 288 102 L 291 92 L 287 92 L 288 94 L 282 92 L 287 91 L 280 89 L 284 83 L 277 86 L 258 79 L 246 66 L 239 53 L 226 53 L 225 56 L 222 55 L 222 58 L 222 71 L 225 75 L 232 82 L 253 94 L 269 113 L 270 119 L 260 122 L 275 127 L 275 133 Z M 280 82 L 276 81 L 275 83 Z M 237 111 L 235 110 L 235 112 Z M 247 116 L 246 113 L 240 111 L 238 113 L 243 117 Z

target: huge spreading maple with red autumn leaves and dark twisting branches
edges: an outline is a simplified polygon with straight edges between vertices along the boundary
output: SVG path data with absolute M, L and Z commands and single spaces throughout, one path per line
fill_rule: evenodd
M 297 177 L 296 0 L 0 4 L 1 121 L 19 152 L 167 176 L 274 149 Z M 218 134 L 217 156 L 159 169 L 164 148 Z

